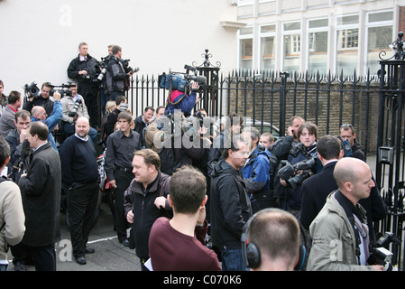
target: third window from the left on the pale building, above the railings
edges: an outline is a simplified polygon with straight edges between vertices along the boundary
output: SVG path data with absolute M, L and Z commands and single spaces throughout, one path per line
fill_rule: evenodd
M 282 70 L 297 71 L 299 70 L 299 56 L 301 51 L 301 23 L 284 23 L 282 26 L 283 33 L 283 63 Z

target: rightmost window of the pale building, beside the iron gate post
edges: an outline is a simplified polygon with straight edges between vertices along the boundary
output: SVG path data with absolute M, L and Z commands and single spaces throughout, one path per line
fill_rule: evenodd
M 386 51 L 386 59 L 391 57 L 391 49 L 389 45 L 393 42 L 392 36 L 393 13 L 379 12 L 370 13 L 366 18 L 367 29 L 367 59 L 366 59 L 366 72 L 375 75 L 380 70 L 379 53 Z

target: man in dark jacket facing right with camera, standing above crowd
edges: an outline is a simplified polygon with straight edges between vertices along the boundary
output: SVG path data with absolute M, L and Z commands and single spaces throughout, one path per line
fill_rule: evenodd
M 106 69 L 106 85 L 110 98 L 115 100 L 116 97 L 125 95 L 125 81 L 129 80 L 134 71 L 124 67 L 123 50 L 120 46 L 114 45 L 112 52 Z

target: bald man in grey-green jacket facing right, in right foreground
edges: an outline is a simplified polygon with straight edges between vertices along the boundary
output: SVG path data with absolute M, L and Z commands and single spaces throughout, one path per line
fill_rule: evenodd
M 313 242 L 307 270 L 382 271 L 383 266 L 367 265 L 368 227 L 365 210 L 358 204 L 375 186 L 370 167 L 346 157 L 336 163 L 334 178 L 338 190 L 327 196 L 327 203 L 309 227 Z

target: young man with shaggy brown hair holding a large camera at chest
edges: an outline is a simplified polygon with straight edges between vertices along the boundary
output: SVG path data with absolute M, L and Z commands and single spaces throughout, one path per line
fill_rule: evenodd
M 310 158 L 317 158 L 317 137 L 318 137 L 318 127 L 315 124 L 306 122 L 304 125 L 299 126 L 299 131 L 297 133 L 300 149 L 297 150 L 298 146 L 290 151 L 288 162 L 291 164 L 297 164 L 299 162 L 306 161 Z M 315 165 L 317 164 L 317 165 Z M 314 174 L 321 169 L 321 163 L 315 162 L 314 166 L 308 170 L 311 174 Z M 316 168 L 316 166 L 318 168 Z M 280 172 L 280 171 L 279 171 Z M 298 174 L 299 172 L 296 172 Z M 309 175 L 305 175 L 308 177 Z M 288 210 L 293 214 L 297 219 L 299 219 L 299 213 L 301 210 L 301 184 L 295 188 L 289 186 L 288 180 L 280 179 L 281 185 L 286 188 L 286 200 L 288 205 Z

